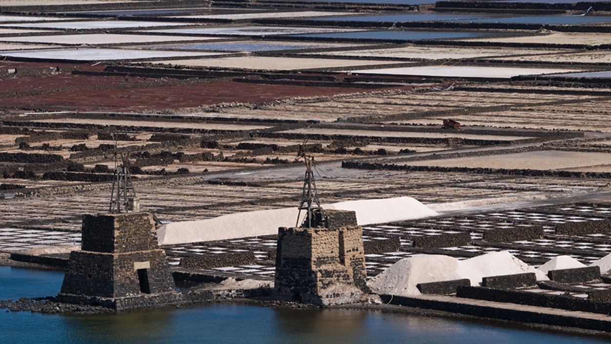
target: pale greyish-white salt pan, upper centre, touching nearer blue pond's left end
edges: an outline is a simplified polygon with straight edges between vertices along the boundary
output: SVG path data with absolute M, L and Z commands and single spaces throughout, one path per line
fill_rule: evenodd
M 273 36 L 315 34 L 323 32 L 351 32 L 351 29 L 330 29 L 327 27 L 278 27 L 278 26 L 241 26 L 241 27 L 190 27 L 186 29 L 146 30 L 162 34 L 183 35 L 237 35 L 237 36 Z

